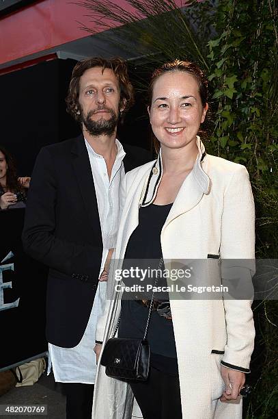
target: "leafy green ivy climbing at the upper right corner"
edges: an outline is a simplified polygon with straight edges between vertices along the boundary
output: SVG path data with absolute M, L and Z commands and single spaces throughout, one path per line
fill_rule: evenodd
M 212 99 L 217 99 L 212 142 L 230 160 L 244 155 L 255 181 L 263 173 L 272 173 L 275 180 L 278 149 L 277 38 L 274 23 L 270 25 L 271 3 L 219 1 L 215 14 L 219 36 L 208 42 Z

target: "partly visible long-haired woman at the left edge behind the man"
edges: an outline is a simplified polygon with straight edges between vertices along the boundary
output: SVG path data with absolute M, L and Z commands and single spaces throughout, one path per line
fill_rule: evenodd
M 30 177 L 16 177 L 12 155 L 0 146 L 0 209 L 24 208 Z

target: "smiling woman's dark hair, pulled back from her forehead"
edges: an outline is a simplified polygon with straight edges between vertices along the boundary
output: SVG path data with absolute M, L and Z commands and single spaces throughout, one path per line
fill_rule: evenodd
M 182 71 L 184 73 L 189 73 L 190 75 L 192 75 L 192 77 L 194 77 L 194 79 L 197 81 L 197 84 L 199 86 L 201 104 L 203 105 L 203 107 L 205 107 L 206 103 L 208 102 L 208 81 L 203 71 L 201 71 L 201 68 L 199 68 L 197 64 L 190 61 L 182 61 L 182 60 L 174 60 L 172 62 L 166 62 L 161 67 L 158 67 L 156 68 L 156 70 L 154 70 L 154 73 L 152 73 L 152 77 L 150 79 L 150 84 L 148 87 L 149 107 L 152 106 L 152 94 L 154 91 L 154 83 L 159 77 L 161 77 L 165 73 L 169 73 L 170 71 Z M 156 153 L 158 153 L 160 149 L 160 144 L 154 135 L 153 135 L 152 141 L 154 144 L 154 149 Z

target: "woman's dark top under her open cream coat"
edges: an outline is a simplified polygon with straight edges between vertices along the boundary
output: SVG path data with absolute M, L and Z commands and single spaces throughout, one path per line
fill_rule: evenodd
M 151 268 L 158 268 L 162 257 L 161 229 L 171 210 L 171 205 L 151 204 L 140 208 L 139 225 L 129 238 L 123 268 L 130 268 L 128 266 L 130 259 L 133 259 L 133 262 L 136 259 L 136 264 L 139 267 L 145 268 L 146 264 L 153 262 Z M 163 281 L 163 279 L 159 279 L 159 281 Z M 157 285 L 161 285 L 161 283 Z M 127 295 L 123 295 L 121 305 L 118 337 L 143 338 L 149 312 L 148 307 L 140 305 L 134 299 L 128 299 Z M 161 372 L 177 375 L 178 362 L 172 320 L 166 319 L 156 311 L 152 312 L 148 342 L 151 349 L 150 365 Z

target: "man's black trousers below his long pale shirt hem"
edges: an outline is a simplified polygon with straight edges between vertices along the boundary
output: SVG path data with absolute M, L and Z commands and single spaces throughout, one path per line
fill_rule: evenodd
M 63 383 L 66 419 L 92 419 L 94 384 Z

